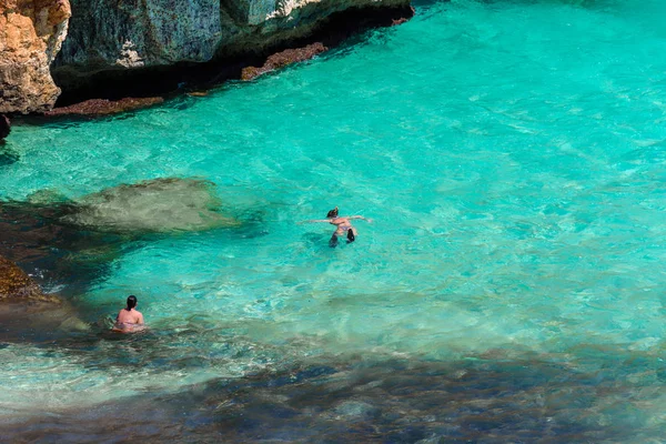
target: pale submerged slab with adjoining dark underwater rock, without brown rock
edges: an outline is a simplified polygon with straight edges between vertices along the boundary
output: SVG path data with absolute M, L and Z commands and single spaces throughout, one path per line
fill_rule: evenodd
M 221 212 L 214 185 L 196 179 L 155 179 L 69 201 L 41 192 L 27 202 L 0 201 L 0 255 L 40 282 L 67 283 L 80 294 L 138 239 L 245 226 Z

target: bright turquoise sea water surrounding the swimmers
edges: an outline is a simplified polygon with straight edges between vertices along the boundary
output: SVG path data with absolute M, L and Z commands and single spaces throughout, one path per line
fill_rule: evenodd
M 408 427 L 386 413 L 385 393 L 350 389 L 307 421 L 329 438 L 349 428 L 384 442 L 663 436 L 666 3 L 453 1 L 416 12 L 205 98 L 17 127 L 6 150 L 18 161 L 0 165 L 3 200 L 199 178 L 246 223 L 129 240 L 82 292 L 48 281 L 90 323 L 137 294 L 152 331 L 6 343 L 3 421 L 118 401 L 140 410 L 149 394 L 219 395 L 206 384 L 284 372 L 307 384 L 294 369 L 317 365 L 349 383 L 400 361 L 408 364 L 391 365 L 414 381 L 480 372 L 463 384 L 471 397 L 456 397 L 465 408 L 480 386 L 517 397 L 484 404 L 491 425 L 440 405 L 422 408 L 432 421 L 421 417 L 418 433 L 372 435 L 359 424 Z M 335 205 L 373 222 L 330 249 L 330 225 L 296 222 Z M 420 365 L 437 371 L 410 371 Z M 516 383 L 529 367 L 538 390 Z M 387 381 L 367 372 L 367 384 Z M 271 398 L 290 398 L 296 382 Z M 393 407 L 412 405 L 408 393 Z M 373 403 L 384 413 L 367 413 Z M 238 425 L 224 421 L 206 424 Z M 263 437 L 307 438 L 284 422 Z M 442 425 L 452 423 L 457 435 Z M 246 428 L 236 437 L 259 440 Z

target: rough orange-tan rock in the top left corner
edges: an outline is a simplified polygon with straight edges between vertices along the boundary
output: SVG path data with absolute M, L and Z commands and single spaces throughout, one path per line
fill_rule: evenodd
M 49 65 L 67 36 L 68 0 L 0 0 L 0 113 L 51 109 Z

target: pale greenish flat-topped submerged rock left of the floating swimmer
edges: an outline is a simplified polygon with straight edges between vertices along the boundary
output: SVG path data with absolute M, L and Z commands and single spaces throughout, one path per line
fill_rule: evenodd
M 115 233 L 201 231 L 239 226 L 222 215 L 212 182 L 155 179 L 90 194 L 71 205 L 62 222 Z

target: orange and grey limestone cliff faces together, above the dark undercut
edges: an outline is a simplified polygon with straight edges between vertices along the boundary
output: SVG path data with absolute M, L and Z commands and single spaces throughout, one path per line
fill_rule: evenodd
M 122 83 L 127 72 L 149 72 L 145 84 L 163 68 L 264 53 L 312 33 L 336 12 L 408 4 L 410 0 L 0 0 L 0 114 L 52 109 L 60 90 L 51 73 L 63 90 L 87 91 L 80 94 L 84 99 L 104 95 L 97 94 L 100 89 L 119 99 L 127 97 L 124 88 L 115 93 L 108 79 Z M 157 70 L 142 71 L 150 68 Z M 143 92 L 141 84 L 137 89 Z

